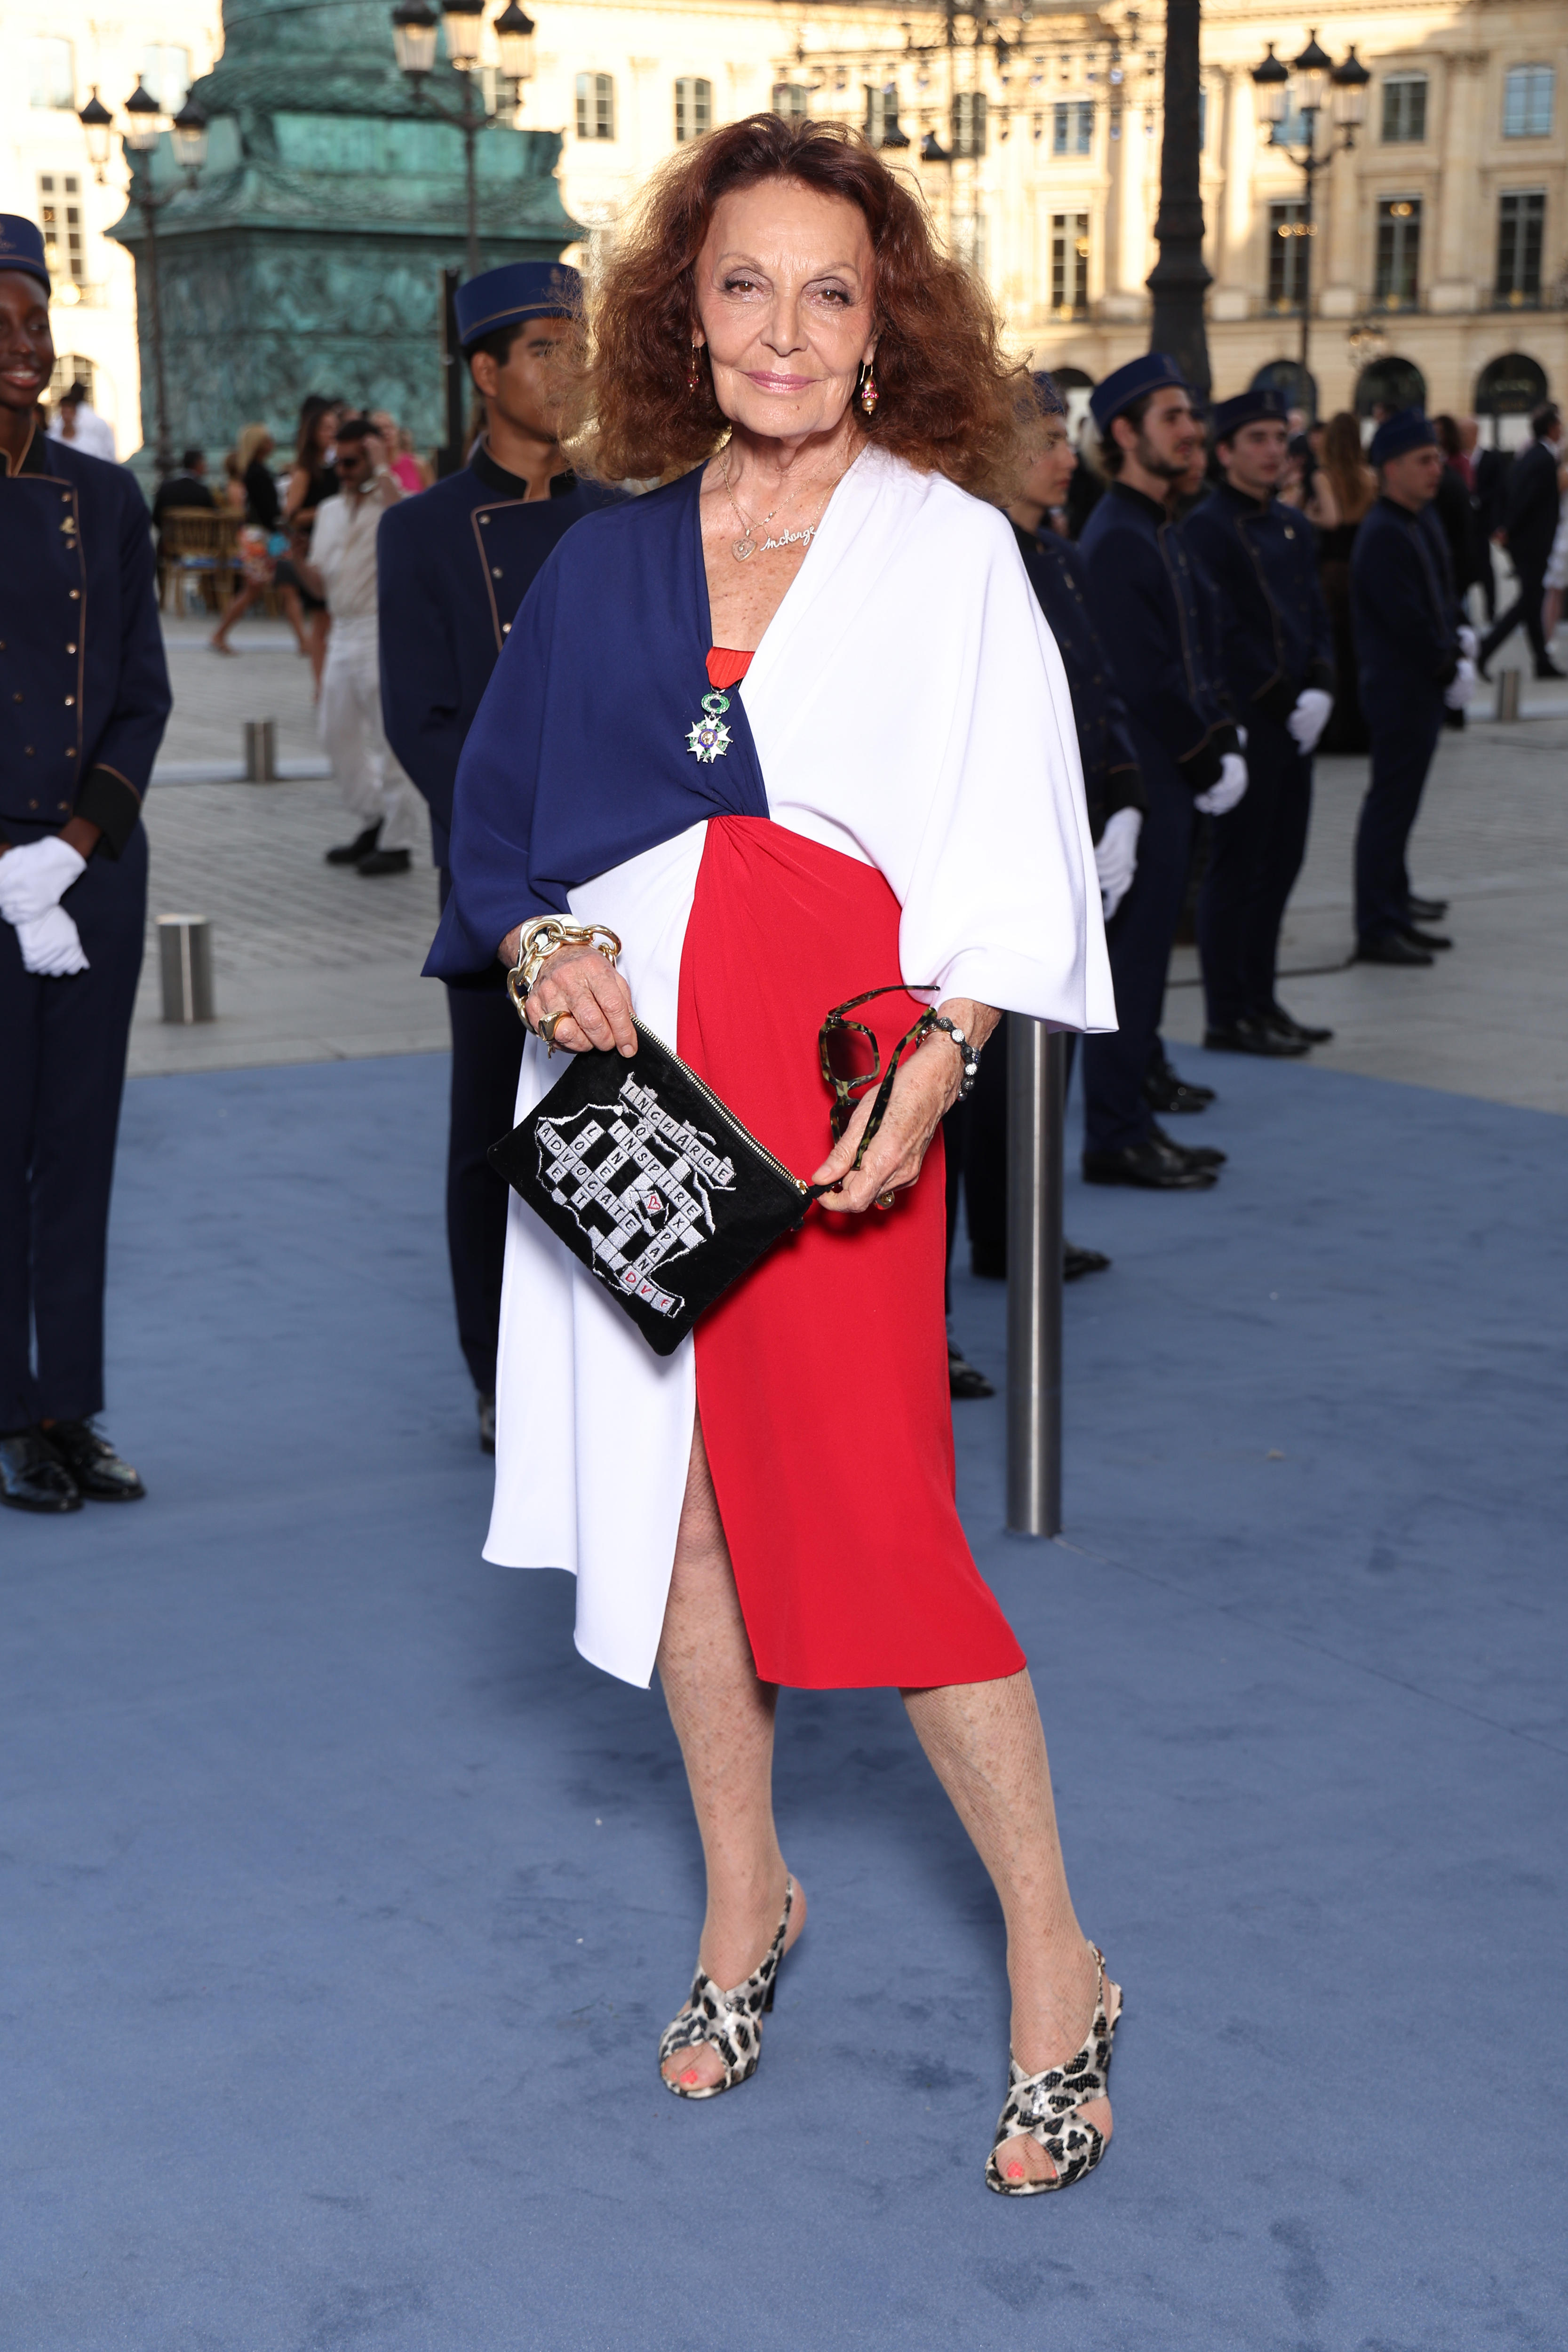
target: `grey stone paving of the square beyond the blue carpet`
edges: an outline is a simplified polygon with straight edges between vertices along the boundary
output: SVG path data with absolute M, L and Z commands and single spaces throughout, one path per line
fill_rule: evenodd
M 150 936 L 132 1073 L 444 1049 L 442 990 L 418 978 L 435 875 L 362 882 L 324 863 L 348 818 L 324 776 L 308 663 L 282 623 L 242 623 L 233 661 L 209 654 L 205 635 L 202 623 L 169 626 L 176 703 L 148 797 L 148 929 L 158 913 L 212 917 L 219 1018 L 160 1021 Z M 1314 1063 L 1568 1112 L 1568 694 L 1526 682 L 1523 710 L 1509 727 L 1481 717 L 1439 748 L 1413 842 L 1418 889 L 1453 898 L 1455 950 L 1432 971 L 1347 964 L 1366 762 L 1316 762 L 1281 981 L 1300 1018 L 1335 1030 Z M 219 781 L 240 774 L 247 717 L 277 722 L 292 781 Z M 1190 1075 L 1222 1084 L 1222 1056 L 1192 1051 L 1201 1030 L 1197 955 L 1178 948 L 1166 1037 L 1187 1047 Z

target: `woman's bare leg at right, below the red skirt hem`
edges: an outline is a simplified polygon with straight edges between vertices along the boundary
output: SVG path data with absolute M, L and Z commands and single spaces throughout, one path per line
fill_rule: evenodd
M 1037 2074 L 1084 2046 L 1095 1964 L 1067 1893 L 1034 1684 L 1018 1672 L 905 1691 L 903 1703 L 1001 1898 L 1013 2056 Z M 1110 2138 L 1110 2100 L 1084 2107 L 1084 2119 Z M 1009 2140 L 997 2164 L 1004 2178 L 1048 2180 L 1056 2171 L 1030 2138 Z

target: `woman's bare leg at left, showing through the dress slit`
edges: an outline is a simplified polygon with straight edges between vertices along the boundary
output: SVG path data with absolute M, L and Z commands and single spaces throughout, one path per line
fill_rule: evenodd
M 701 1425 L 691 1437 L 658 1679 L 708 1863 L 701 1964 L 717 1985 L 741 1985 L 764 1959 L 783 1910 L 785 1860 L 773 1828 L 778 1684 L 762 1682 L 752 1665 Z M 804 1924 L 806 1898 L 797 1889 L 790 1943 Z M 668 2079 L 698 2086 L 722 2072 L 712 2049 L 679 2051 L 665 2063 Z

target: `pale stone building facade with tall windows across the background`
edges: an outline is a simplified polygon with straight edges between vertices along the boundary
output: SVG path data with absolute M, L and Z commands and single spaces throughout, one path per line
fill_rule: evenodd
M 536 75 L 517 122 L 562 134 L 564 212 L 597 240 L 616 235 L 646 172 L 703 129 L 764 106 L 832 115 L 889 141 L 985 270 L 1018 350 L 1091 381 L 1145 348 L 1159 7 L 1041 0 L 1027 19 L 987 14 L 978 45 L 973 16 L 884 0 L 529 0 L 529 12 Z M 1373 80 L 1354 148 L 1316 176 L 1302 240 L 1302 172 L 1258 127 L 1251 68 L 1269 42 L 1295 56 L 1312 28 L 1335 61 L 1354 45 Z M 85 275 L 61 348 L 94 358 L 99 405 L 132 447 L 132 270 L 103 242 L 125 174 L 115 162 L 96 191 L 73 113 L 38 103 L 63 89 L 59 42 L 73 49 L 75 103 L 89 80 L 113 101 L 153 49 L 202 73 L 221 49 L 219 12 L 136 0 L 106 28 L 80 0 L 49 12 L 24 0 L 0 21 L 0 205 L 35 212 L 45 174 L 61 191 L 78 181 Z M 1300 362 L 1302 245 L 1321 407 L 1368 407 L 1389 386 L 1434 409 L 1500 400 L 1495 430 L 1514 437 L 1535 393 L 1568 393 L 1566 85 L 1561 0 L 1363 0 L 1326 5 L 1312 26 L 1213 0 L 1201 172 L 1215 393 Z M 1326 118 L 1316 136 L 1321 153 Z

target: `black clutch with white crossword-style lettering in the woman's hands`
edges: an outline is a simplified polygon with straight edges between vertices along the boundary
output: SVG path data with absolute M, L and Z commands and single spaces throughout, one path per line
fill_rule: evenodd
M 816 1200 L 642 1021 L 630 1058 L 574 1054 L 489 1162 L 656 1355 Z

